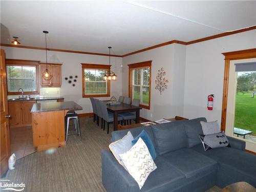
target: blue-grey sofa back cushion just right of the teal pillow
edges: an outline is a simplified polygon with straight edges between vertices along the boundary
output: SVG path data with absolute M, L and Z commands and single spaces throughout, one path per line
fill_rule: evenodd
M 159 155 L 186 147 L 186 134 L 183 121 L 174 121 L 152 125 L 156 141 L 156 151 Z

